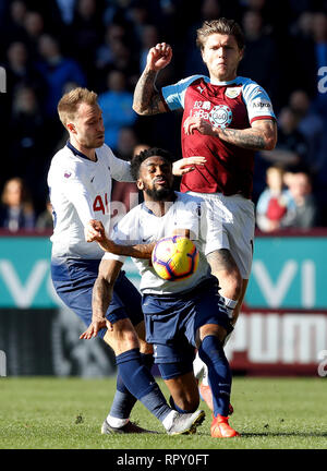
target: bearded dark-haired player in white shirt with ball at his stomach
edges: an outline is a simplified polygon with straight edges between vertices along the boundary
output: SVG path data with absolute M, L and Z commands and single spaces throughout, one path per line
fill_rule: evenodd
M 113 228 L 108 239 L 99 221 L 94 221 L 87 240 L 98 241 L 106 251 L 94 287 L 93 322 L 82 338 L 92 338 L 105 325 L 105 314 L 119 269 L 125 256 L 114 255 L 117 247 L 146 246 L 168 235 L 194 240 L 199 252 L 197 269 L 186 278 L 171 281 L 160 278 L 150 261 L 152 251 L 133 257 L 142 276 L 140 290 L 145 315 L 146 340 L 154 345 L 155 363 L 166 382 L 171 406 L 180 413 L 198 407 L 197 383 L 193 374 L 195 348 L 208 367 L 214 390 L 211 436 L 238 436 L 228 422 L 231 371 L 222 343 L 232 330 L 217 278 L 210 274 L 206 255 L 217 247 L 211 234 L 206 204 L 199 197 L 173 191 L 170 155 L 149 148 L 132 160 L 132 173 L 143 191 L 144 203 L 134 207 Z M 122 252 L 121 252 L 122 253 Z M 131 371 L 131 382 L 135 373 Z

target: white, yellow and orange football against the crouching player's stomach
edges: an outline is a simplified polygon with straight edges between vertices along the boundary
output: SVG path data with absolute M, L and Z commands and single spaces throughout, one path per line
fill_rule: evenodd
M 156 243 L 152 262 L 160 278 L 178 281 L 194 274 L 198 265 L 198 252 L 186 237 L 166 237 Z

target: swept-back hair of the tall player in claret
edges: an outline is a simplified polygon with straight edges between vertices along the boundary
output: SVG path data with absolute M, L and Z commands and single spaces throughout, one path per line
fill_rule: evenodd
M 203 50 L 208 36 L 211 34 L 221 34 L 234 36 L 239 49 L 244 48 L 244 35 L 240 25 L 234 20 L 220 17 L 219 20 L 205 21 L 201 28 L 196 31 L 196 46 Z

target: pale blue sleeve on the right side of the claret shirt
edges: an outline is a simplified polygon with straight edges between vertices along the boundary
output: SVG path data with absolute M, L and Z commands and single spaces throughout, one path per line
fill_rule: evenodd
M 243 85 L 243 99 L 247 108 L 250 124 L 261 119 L 276 120 L 268 94 L 255 82 L 249 81 Z

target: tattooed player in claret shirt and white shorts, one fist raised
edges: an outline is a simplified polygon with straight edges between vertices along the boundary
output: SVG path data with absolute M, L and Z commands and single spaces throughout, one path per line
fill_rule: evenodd
M 251 201 L 254 155 L 277 142 L 276 118 L 267 93 L 238 76 L 244 38 L 233 20 L 205 21 L 197 46 L 209 76 L 193 75 L 157 90 L 158 72 L 172 58 L 166 43 L 152 48 L 134 92 L 133 108 L 150 116 L 183 109 L 183 157 L 204 156 L 206 164 L 182 178 L 181 191 L 201 195 L 214 208 L 219 247 L 208 256 L 220 294 L 234 325 L 245 295 L 255 227 Z M 220 227 L 222 221 L 222 227 Z M 210 391 L 202 389 L 207 403 Z M 208 396 L 207 396 L 208 395 Z

